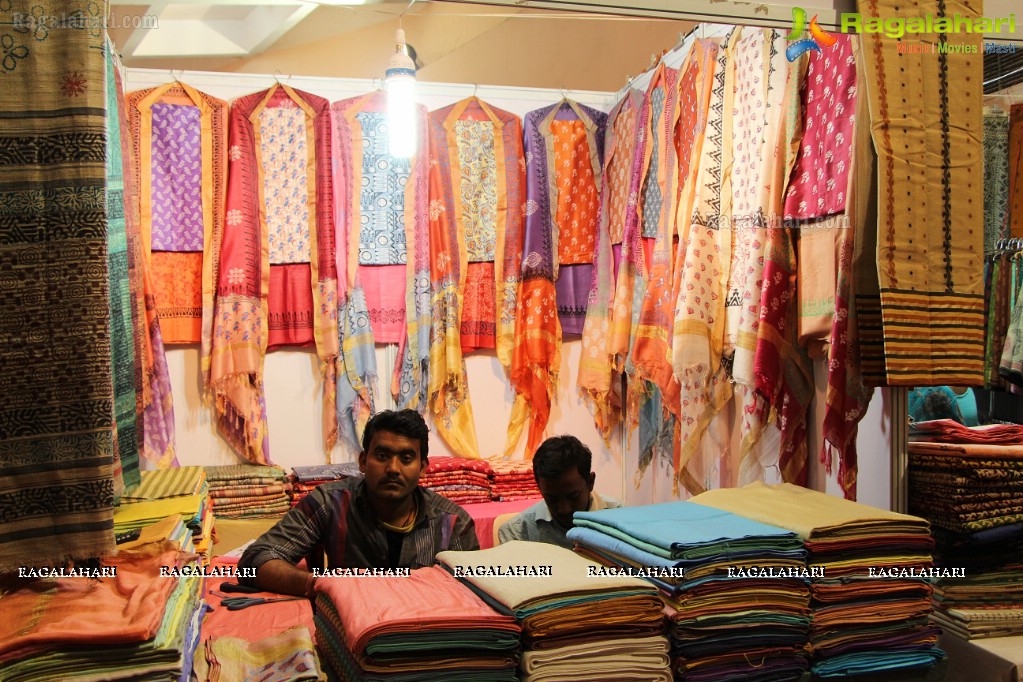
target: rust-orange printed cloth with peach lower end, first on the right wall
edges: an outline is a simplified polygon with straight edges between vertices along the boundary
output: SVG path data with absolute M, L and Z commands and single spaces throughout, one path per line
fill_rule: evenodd
M 637 118 L 643 95 L 629 92 L 608 115 L 608 134 L 604 145 L 604 173 L 601 186 L 601 220 L 596 232 L 592 284 L 586 303 L 586 322 L 582 333 L 577 385 L 590 404 L 596 429 L 606 444 L 612 429 L 621 423 L 621 396 L 617 379 L 621 376 L 611 352 L 612 306 L 615 293 L 615 257 L 613 224 L 624 232 L 629 210 L 629 185 L 637 136 Z M 631 204 L 634 208 L 634 203 Z M 621 234 L 619 234 L 621 239 Z

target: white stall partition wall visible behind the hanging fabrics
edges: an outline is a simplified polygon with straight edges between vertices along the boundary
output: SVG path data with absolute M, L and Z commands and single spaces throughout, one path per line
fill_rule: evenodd
M 128 69 L 127 90 L 162 85 L 179 80 L 215 97 L 233 100 L 239 96 L 270 87 L 274 77 L 255 74 L 215 74 L 204 72 L 175 72 Z M 377 87 L 368 80 L 292 78 L 287 85 L 326 97 L 331 102 L 367 93 Z M 563 93 L 560 90 L 529 88 L 477 87 L 475 85 L 418 84 L 419 101 L 433 110 L 469 97 L 474 93 L 481 99 L 519 116 L 557 102 L 563 94 L 583 104 L 609 110 L 616 101 L 615 93 L 579 92 Z M 654 462 L 643 475 L 638 471 L 638 435 L 630 438 L 616 433 L 611 443 L 605 444 L 596 433 L 589 410 L 576 390 L 581 344 L 570 337 L 562 348 L 561 382 L 557 401 L 551 407 L 549 435 L 571 434 L 578 437 L 593 452 L 593 469 L 596 488 L 602 494 L 617 497 L 627 504 L 649 504 L 676 499 L 672 472 L 662 462 Z M 376 362 L 381 374 L 377 385 L 379 407 L 392 405 L 388 395 L 390 370 L 394 366 L 394 347 L 377 346 Z M 176 427 L 176 452 L 182 465 L 216 465 L 238 463 L 240 459 L 216 430 L 213 408 L 202 398 L 202 374 L 197 346 L 168 346 L 167 362 L 173 387 Z M 514 392 L 506 373 L 492 351 L 481 351 L 465 357 L 470 393 L 476 417 L 476 431 L 480 453 L 484 457 L 499 456 L 504 449 L 508 418 L 511 413 Z M 825 475 L 816 464 L 820 447 L 820 423 L 824 416 L 824 388 L 826 373 L 822 366 L 815 368 L 817 376 L 816 400 L 810 424 L 809 452 L 810 482 L 817 490 L 841 494 L 834 474 Z M 319 464 L 327 461 L 351 461 L 357 453 L 345 452 L 337 446 L 324 452 L 322 438 L 322 403 L 317 358 L 313 351 L 292 350 L 268 353 L 264 370 L 266 384 L 267 418 L 270 435 L 270 456 L 274 463 L 285 470 L 297 465 Z M 881 400 L 876 397 L 871 411 L 860 427 L 860 499 L 869 504 L 888 506 L 889 434 Z M 738 429 L 733 405 L 727 406 L 708 427 L 700 451 L 699 480 L 708 488 L 720 487 L 721 472 L 717 462 L 723 452 L 737 453 Z M 764 480 L 777 481 L 777 469 L 770 463 L 776 461 L 776 429 L 768 429 L 761 442 L 758 456 L 768 466 Z M 523 439 L 525 440 L 525 439 Z M 772 447 L 773 445 L 773 447 Z M 521 458 L 524 443 L 519 444 L 516 457 Z M 435 433 L 431 434 L 430 450 L 433 454 L 450 454 L 450 450 Z M 682 492 L 684 495 L 684 491 Z

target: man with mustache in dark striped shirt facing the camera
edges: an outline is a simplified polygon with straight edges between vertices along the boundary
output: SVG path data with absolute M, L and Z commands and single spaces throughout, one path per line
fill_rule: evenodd
M 250 545 L 238 561 L 257 569 L 248 582 L 312 597 L 311 571 L 322 567 L 324 554 L 327 569 L 419 569 L 447 549 L 479 549 L 465 510 L 418 485 L 429 447 L 427 422 L 414 410 L 373 415 L 359 454 L 364 476 L 317 487 Z M 309 571 L 296 566 L 302 558 Z

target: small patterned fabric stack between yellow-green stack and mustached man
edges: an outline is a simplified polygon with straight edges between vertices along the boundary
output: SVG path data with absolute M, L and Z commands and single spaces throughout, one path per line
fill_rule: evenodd
M 207 466 L 206 475 L 219 518 L 267 518 L 292 508 L 286 476 L 279 466 Z

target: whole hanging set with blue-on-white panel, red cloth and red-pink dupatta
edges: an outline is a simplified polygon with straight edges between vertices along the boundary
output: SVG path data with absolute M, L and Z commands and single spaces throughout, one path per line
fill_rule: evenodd
M 315 345 L 327 449 L 337 438 L 329 116 L 325 99 L 281 84 L 231 107 L 211 382 L 221 433 L 257 464 L 270 461 L 263 388 L 268 347 Z

